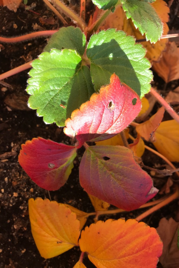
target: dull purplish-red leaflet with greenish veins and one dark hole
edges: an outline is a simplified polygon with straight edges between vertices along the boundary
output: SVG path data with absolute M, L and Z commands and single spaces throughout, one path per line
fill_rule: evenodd
M 151 177 L 123 146 L 91 146 L 84 152 L 79 171 L 81 186 L 92 194 L 127 211 L 139 208 L 158 190 Z

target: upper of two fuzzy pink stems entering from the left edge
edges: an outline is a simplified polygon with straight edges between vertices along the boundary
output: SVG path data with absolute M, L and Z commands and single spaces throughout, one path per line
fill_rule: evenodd
M 4 43 L 22 42 L 22 41 L 25 41 L 25 40 L 29 40 L 31 38 L 36 38 L 36 37 L 46 36 L 46 35 L 53 35 L 55 32 L 57 32 L 57 30 L 32 32 L 32 33 L 27 34 L 27 35 L 22 35 L 22 36 L 13 37 L 13 38 L 5 38 L 5 37 L 0 36 L 0 42 L 4 42 Z

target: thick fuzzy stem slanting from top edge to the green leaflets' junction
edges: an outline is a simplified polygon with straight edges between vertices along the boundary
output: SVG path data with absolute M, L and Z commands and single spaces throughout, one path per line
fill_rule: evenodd
M 84 31 L 84 29 L 86 28 L 86 24 L 81 20 L 81 18 L 78 17 L 78 15 L 74 13 L 74 11 L 70 10 L 69 7 L 67 7 L 59 0 L 50 0 L 50 1 L 54 3 L 59 10 L 61 10 L 68 17 L 70 17 L 72 21 L 74 21 L 81 28 L 82 31 Z

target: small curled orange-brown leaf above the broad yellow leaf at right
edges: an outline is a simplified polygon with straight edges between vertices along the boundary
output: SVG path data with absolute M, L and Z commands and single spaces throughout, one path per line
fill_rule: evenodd
M 149 120 L 136 127 L 137 133 L 139 133 L 146 141 L 155 141 L 155 131 L 163 119 L 164 112 L 165 109 L 162 106 Z

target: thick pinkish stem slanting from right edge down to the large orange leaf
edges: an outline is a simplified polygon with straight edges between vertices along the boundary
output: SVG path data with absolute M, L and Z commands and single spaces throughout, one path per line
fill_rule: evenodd
M 175 200 L 176 198 L 179 197 L 179 191 L 178 189 L 175 191 L 174 194 L 170 195 L 169 197 L 167 197 L 165 200 L 163 200 L 162 202 L 160 202 L 159 204 L 155 205 L 153 208 L 148 209 L 147 211 L 145 211 L 144 213 L 142 213 L 141 215 L 139 215 L 137 218 L 135 218 L 138 222 L 141 221 L 143 218 L 149 216 L 151 213 L 157 211 L 159 208 L 164 207 L 165 205 L 169 204 L 170 202 L 172 202 L 173 200 Z

